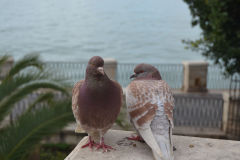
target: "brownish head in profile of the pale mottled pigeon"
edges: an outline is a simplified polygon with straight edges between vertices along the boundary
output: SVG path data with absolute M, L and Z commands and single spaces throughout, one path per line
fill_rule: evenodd
M 150 64 L 141 63 L 137 65 L 134 69 L 134 73 L 130 78 L 138 79 L 153 79 L 153 80 L 161 80 L 162 77 L 157 70 L 157 68 L 153 67 Z

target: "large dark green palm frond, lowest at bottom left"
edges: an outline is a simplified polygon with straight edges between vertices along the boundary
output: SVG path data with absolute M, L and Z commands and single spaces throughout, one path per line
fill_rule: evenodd
M 43 137 L 56 133 L 71 121 L 74 118 L 70 99 L 55 103 L 53 107 L 26 112 L 14 125 L 1 133 L 0 157 L 4 160 L 20 159 Z

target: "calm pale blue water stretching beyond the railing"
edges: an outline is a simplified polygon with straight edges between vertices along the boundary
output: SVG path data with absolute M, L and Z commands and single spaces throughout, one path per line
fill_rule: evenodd
M 48 61 L 181 63 L 203 60 L 184 49 L 196 39 L 182 0 L 0 0 L 0 55 L 40 53 Z

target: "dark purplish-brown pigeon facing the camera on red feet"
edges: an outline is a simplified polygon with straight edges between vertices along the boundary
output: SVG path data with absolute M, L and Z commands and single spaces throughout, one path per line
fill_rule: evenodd
M 92 57 L 87 65 L 86 76 L 72 90 L 72 111 L 77 122 L 76 132 L 88 133 L 85 147 L 97 147 L 103 152 L 113 149 L 105 145 L 104 134 L 111 128 L 122 106 L 122 87 L 108 78 L 103 69 L 104 61 Z M 100 139 L 100 140 L 99 140 Z M 99 140 L 99 143 L 96 141 Z

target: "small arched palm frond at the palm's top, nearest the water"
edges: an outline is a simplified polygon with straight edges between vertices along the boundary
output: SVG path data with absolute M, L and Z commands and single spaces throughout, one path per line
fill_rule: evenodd
M 36 54 L 26 55 L 21 60 L 16 62 L 16 64 L 11 68 L 8 75 L 6 76 L 6 79 L 13 77 L 28 67 L 35 67 L 38 70 L 42 71 L 44 68 L 44 63 L 39 60 L 39 56 Z

